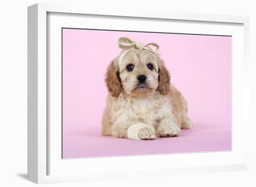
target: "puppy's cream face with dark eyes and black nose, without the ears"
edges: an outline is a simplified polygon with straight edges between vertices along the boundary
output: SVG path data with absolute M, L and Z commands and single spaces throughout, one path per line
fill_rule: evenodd
M 123 90 L 140 97 L 158 87 L 158 64 L 151 52 L 132 49 L 122 58 L 119 76 Z

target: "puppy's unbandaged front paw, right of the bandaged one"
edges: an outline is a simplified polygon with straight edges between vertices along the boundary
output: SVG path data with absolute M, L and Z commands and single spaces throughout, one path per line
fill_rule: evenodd
M 161 137 L 179 136 L 181 129 L 176 124 L 170 124 L 166 126 L 159 126 L 156 134 Z

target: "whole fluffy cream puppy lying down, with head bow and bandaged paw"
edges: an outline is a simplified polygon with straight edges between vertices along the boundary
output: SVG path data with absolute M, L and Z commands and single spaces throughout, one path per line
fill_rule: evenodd
M 126 37 L 120 38 L 118 44 L 123 50 L 111 61 L 105 75 L 109 94 L 102 135 L 151 140 L 192 129 L 187 101 L 170 85 L 170 74 L 157 54 L 159 46 L 143 45 Z

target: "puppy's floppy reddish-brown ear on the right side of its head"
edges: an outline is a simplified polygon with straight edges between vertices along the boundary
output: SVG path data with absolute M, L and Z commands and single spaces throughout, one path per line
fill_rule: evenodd
M 166 95 L 170 91 L 170 73 L 161 58 L 158 61 L 158 90 L 160 94 Z

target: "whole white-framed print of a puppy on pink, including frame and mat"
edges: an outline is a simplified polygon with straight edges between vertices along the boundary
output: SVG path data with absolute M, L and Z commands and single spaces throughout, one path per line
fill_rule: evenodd
M 29 6 L 28 179 L 247 170 L 248 24 Z

